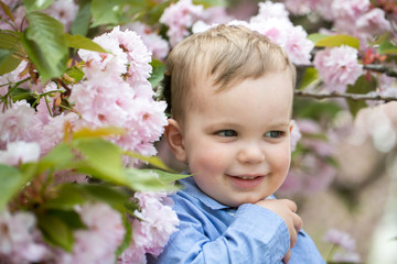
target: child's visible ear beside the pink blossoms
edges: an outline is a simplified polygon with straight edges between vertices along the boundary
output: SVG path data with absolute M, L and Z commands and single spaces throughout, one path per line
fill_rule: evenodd
M 186 163 L 187 157 L 183 143 L 183 134 L 181 131 L 181 127 L 174 119 L 168 120 L 168 125 L 165 127 L 164 135 L 176 160 L 179 162 Z

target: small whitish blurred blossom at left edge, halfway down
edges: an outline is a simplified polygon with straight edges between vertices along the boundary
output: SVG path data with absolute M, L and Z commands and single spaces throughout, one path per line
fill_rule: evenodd
M 40 145 L 35 142 L 15 141 L 7 144 L 7 151 L 0 151 L 0 164 L 17 166 L 23 163 L 37 162 Z

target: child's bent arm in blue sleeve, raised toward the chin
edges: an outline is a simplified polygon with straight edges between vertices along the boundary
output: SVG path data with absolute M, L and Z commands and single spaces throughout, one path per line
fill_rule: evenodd
M 276 206 L 275 202 L 269 204 Z M 287 207 L 277 211 L 288 215 L 283 210 Z M 264 210 L 257 205 L 240 206 L 229 226 L 216 239 L 205 231 L 210 229 L 203 227 L 198 213 L 179 212 L 179 231 L 172 235 L 155 263 L 273 264 L 282 263 L 289 251 L 288 227 L 283 218 L 270 209 Z

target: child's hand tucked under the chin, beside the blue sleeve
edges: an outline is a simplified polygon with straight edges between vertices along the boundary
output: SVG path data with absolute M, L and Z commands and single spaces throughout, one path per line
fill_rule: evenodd
M 282 258 L 283 263 L 288 263 L 291 256 L 291 249 L 297 244 L 298 240 L 298 232 L 302 228 L 302 219 L 296 213 L 297 211 L 297 204 L 288 199 L 268 199 L 268 200 L 260 200 L 256 205 L 265 207 L 277 215 L 279 215 L 286 222 L 288 227 L 288 231 L 290 233 L 290 249 L 288 250 L 287 254 Z

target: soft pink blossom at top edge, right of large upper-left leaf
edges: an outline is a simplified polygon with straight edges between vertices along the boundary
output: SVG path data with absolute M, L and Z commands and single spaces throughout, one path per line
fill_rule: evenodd
M 78 12 L 78 4 L 73 0 L 55 0 L 44 12 L 64 24 L 67 32 Z

